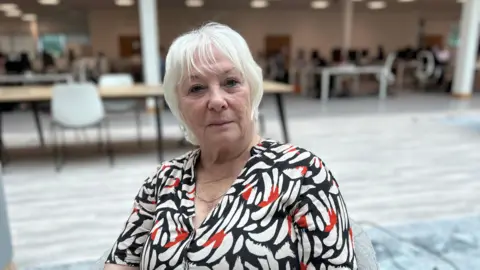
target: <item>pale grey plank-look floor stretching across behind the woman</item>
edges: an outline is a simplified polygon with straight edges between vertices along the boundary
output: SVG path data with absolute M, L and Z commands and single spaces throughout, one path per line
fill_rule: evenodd
M 480 214 L 480 129 L 452 124 L 479 119 L 480 95 L 458 101 L 443 94 L 404 93 L 285 101 L 291 141 L 312 150 L 333 171 L 352 218 L 389 226 Z M 281 139 L 276 108 L 265 98 L 265 137 Z M 48 126 L 48 118 L 43 122 Z M 181 132 L 163 116 L 166 158 Z M 133 116 L 112 117 L 116 165 L 96 148 L 96 132 L 67 134 L 67 163 L 54 171 L 50 148 L 39 149 L 28 113 L 4 117 L 11 161 L 5 168 L 8 210 L 20 267 L 99 258 L 113 243 L 155 159 L 154 121 L 143 117 L 143 146 Z M 480 124 L 479 124 L 480 125 Z M 47 138 L 50 135 L 47 132 Z M 80 144 L 80 145 L 79 145 Z

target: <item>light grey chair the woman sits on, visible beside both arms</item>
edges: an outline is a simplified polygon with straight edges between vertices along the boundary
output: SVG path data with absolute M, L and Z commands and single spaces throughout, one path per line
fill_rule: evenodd
M 353 230 L 353 241 L 355 243 L 355 255 L 357 256 L 358 270 L 379 270 L 375 250 L 367 233 L 362 227 L 350 220 L 350 225 Z M 101 270 L 105 260 L 109 255 L 109 251 L 105 252 L 95 264 L 93 269 Z M 93 270 L 92 269 L 92 270 Z

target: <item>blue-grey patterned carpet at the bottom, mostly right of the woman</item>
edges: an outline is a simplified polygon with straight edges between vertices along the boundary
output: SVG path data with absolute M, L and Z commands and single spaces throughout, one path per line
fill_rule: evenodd
M 382 270 L 480 269 L 480 216 L 380 227 L 358 222 Z M 22 270 L 99 270 L 100 261 L 43 265 Z M 360 269 L 361 270 L 361 269 Z

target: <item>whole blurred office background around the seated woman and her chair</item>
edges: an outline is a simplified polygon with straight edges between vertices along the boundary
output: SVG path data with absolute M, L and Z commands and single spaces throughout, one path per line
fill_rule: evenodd
M 263 136 L 325 160 L 380 269 L 480 269 L 480 0 L 0 0 L 0 269 L 101 265 L 192 148 L 161 81 L 209 21 L 264 70 Z

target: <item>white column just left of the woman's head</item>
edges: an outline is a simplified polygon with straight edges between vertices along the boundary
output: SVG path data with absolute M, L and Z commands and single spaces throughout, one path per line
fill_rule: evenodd
M 140 34 L 142 41 L 143 79 L 147 85 L 160 84 L 160 57 L 157 30 L 157 0 L 138 1 Z M 153 100 L 147 100 L 153 107 Z

